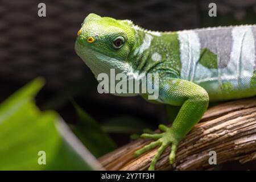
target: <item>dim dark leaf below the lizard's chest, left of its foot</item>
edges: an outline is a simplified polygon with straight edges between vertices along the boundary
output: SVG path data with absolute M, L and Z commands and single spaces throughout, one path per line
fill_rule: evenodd
M 101 127 L 106 133 L 123 134 L 141 134 L 143 129 L 151 128 L 147 123 L 130 116 L 111 118 L 102 123 Z

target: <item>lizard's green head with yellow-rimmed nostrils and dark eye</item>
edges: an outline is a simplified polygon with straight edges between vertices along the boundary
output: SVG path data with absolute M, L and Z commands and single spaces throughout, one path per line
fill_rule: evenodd
M 134 47 L 135 31 L 129 20 L 116 20 L 89 14 L 77 32 L 75 50 L 94 76 L 110 69 L 126 73 L 127 59 Z

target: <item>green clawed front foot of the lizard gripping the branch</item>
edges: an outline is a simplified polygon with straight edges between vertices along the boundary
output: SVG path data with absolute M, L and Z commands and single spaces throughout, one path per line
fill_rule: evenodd
M 175 159 L 175 154 L 177 150 L 177 145 L 179 143 L 179 140 L 177 140 L 177 136 L 175 135 L 174 131 L 172 130 L 171 127 L 167 127 L 164 125 L 159 125 L 159 129 L 164 131 L 164 133 L 160 134 L 142 134 L 142 138 L 150 138 L 150 139 L 155 139 L 156 141 L 151 142 L 150 144 L 147 144 L 143 148 L 137 150 L 134 154 L 135 157 L 143 154 L 144 152 L 151 150 L 152 148 L 155 148 L 156 146 L 160 146 L 158 148 L 158 151 L 156 152 L 156 155 L 151 161 L 150 167 L 148 168 L 149 171 L 154 171 L 155 169 L 155 164 L 157 160 L 160 158 L 160 155 L 162 152 L 170 145 L 172 144 L 171 147 L 171 154 L 169 157 L 170 164 L 174 163 Z

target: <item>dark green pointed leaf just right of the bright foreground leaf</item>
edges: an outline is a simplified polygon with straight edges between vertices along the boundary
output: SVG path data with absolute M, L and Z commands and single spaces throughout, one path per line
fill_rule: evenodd
M 76 109 L 77 116 L 79 117 L 79 121 L 71 128 L 88 150 L 98 158 L 117 148 L 116 144 L 108 134 L 101 129 L 100 125 L 90 117 L 89 114 L 82 110 L 76 102 L 72 102 Z

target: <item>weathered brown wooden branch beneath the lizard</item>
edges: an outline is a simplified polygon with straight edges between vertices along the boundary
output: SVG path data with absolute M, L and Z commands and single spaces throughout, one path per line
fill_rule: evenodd
M 138 158 L 134 158 L 133 154 L 151 141 L 136 140 L 98 160 L 107 170 L 146 170 L 156 148 Z M 208 162 L 208 153 L 212 150 L 217 152 L 217 164 L 231 160 L 246 163 L 256 159 L 256 97 L 226 102 L 208 109 L 201 122 L 180 143 L 175 164 L 168 162 L 168 147 L 155 169 L 212 169 L 214 165 Z

